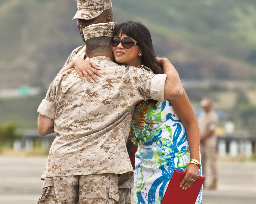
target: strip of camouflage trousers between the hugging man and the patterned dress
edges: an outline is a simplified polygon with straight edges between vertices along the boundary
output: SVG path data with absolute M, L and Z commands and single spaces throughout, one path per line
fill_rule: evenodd
M 130 178 L 126 183 L 118 186 L 119 201 L 118 204 L 131 204 L 131 190 L 133 188 L 134 177 Z

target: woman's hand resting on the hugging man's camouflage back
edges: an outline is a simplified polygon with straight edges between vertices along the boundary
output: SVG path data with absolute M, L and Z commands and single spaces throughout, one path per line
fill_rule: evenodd
M 103 75 L 97 71 L 97 70 L 100 70 L 100 68 L 97 65 L 95 65 L 93 62 L 84 60 L 81 58 L 77 58 L 73 62 L 74 62 L 74 68 L 76 69 L 76 72 L 79 74 L 82 82 L 85 81 L 84 76 L 91 83 L 93 83 L 93 80 L 98 82 L 98 79 L 95 75 L 99 77 L 103 77 Z

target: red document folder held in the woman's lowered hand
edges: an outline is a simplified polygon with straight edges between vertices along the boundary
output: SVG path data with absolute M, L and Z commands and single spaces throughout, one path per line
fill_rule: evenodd
M 179 187 L 179 184 L 185 174 L 186 172 L 174 170 L 161 204 L 195 204 L 197 196 L 205 181 L 205 177 L 199 176 L 190 188 L 182 190 L 182 188 Z

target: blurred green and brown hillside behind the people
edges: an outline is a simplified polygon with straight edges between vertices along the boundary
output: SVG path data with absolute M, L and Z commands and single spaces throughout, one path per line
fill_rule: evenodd
M 255 0 L 112 0 L 113 21 L 138 20 L 159 57 L 180 74 L 196 114 L 204 96 L 221 125 L 256 129 Z M 37 107 L 73 49 L 83 44 L 76 1 L 1 0 L 0 124 L 37 128 Z M 142 34 L 143 35 L 143 34 Z

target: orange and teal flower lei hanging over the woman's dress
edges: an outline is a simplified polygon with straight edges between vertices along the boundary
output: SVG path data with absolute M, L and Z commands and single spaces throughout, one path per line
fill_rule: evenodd
M 141 129 L 140 133 L 135 132 L 134 123 L 136 122 L 136 116 L 134 113 L 132 115 L 132 122 L 131 122 L 129 137 L 133 142 L 133 144 L 135 145 L 141 145 L 145 143 L 150 136 L 150 132 L 148 131 L 148 129 L 150 128 L 150 125 L 146 123 L 149 120 L 149 115 L 147 114 L 148 112 L 147 103 L 148 101 L 140 101 L 138 103 L 139 105 L 137 105 L 137 109 L 139 111 L 139 114 L 141 115 L 141 117 L 139 118 L 140 120 L 139 128 Z

